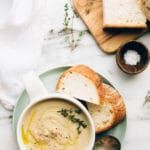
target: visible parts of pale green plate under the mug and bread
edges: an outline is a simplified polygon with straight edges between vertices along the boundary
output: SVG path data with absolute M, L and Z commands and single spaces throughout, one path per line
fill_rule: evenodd
M 47 90 L 50 93 L 55 92 L 55 86 L 56 86 L 56 83 L 57 83 L 59 77 L 61 76 L 61 74 L 64 71 L 66 71 L 69 68 L 70 68 L 70 66 L 58 67 L 58 68 L 51 69 L 40 75 L 40 79 L 43 81 L 45 87 L 47 88 Z M 103 77 L 103 82 L 113 86 L 104 77 Z M 17 103 L 17 105 L 14 109 L 14 113 L 13 113 L 13 131 L 15 134 L 16 134 L 18 119 L 19 119 L 22 111 L 28 104 L 29 104 L 29 97 L 28 97 L 26 91 L 24 90 L 18 100 L 18 103 Z M 104 132 L 103 134 L 97 135 L 97 138 L 99 138 L 100 136 L 102 136 L 104 134 L 108 134 L 108 135 L 113 135 L 113 136 L 117 137 L 120 140 L 120 142 L 122 142 L 124 139 L 124 136 L 125 136 L 125 132 L 126 132 L 126 125 L 127 125 L 127 122 L 125 119 L 122 123 L 120 123 L 113 129 L 111 129 L 107 132 Z

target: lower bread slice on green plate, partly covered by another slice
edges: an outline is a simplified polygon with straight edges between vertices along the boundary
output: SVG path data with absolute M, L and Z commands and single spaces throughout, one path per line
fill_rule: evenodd
M 103 104 L 94 105 L 87 103 L 88 110 L 93 118 L 96 132 L 106 131 L 126 116 L 126 108 L 119 92 L 111 86 L 103 83 Z

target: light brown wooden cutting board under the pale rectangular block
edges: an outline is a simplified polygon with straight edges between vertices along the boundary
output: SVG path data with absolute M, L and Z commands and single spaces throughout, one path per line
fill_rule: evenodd
M 75 10 L 80 15 L 100 48 L 106 53 L 114 53 L 125 42 L 137 39 L 146 30 L 117 29 L 103 30 L 102 0 L 73 0 Z

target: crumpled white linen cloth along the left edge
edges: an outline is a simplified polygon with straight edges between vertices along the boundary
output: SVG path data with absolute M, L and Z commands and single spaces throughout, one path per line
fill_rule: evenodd
M 46 1 L 13 0 L 5 23 L 0 25 L 0 102 L 15 103 L 23 89 L 22 75 L 36 68 L 49 29 Z

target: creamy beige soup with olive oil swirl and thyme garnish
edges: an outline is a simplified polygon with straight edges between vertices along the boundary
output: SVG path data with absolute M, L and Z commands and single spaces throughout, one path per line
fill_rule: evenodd
M 27 112 L 22 122 L 22 139 L 26 150 L 86 150 L 89 126 L 76 105 L 54 99 L 38 103 Z

